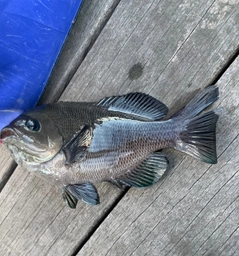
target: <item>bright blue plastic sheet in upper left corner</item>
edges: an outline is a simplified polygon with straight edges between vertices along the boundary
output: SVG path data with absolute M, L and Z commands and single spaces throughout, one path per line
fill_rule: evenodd
M 0 129 L 37 103 L 81 0 L 0 0 Z

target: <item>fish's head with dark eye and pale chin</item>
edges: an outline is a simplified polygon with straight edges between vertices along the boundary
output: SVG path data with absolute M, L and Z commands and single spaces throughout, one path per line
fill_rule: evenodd
M 22 114 L 1 131 L 1 139 L 20 165 L 51 160 L 63 138 L 54 121 L 42 113 Z

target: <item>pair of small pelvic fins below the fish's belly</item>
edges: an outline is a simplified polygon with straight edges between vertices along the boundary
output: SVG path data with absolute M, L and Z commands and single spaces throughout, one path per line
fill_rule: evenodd
M 76 208 L 77 201 L 82 200 L 87 204 L 100 203 L 98 192 L 91 183 L 71 184 L 63 188 L 63 198 L 70 208 Z

